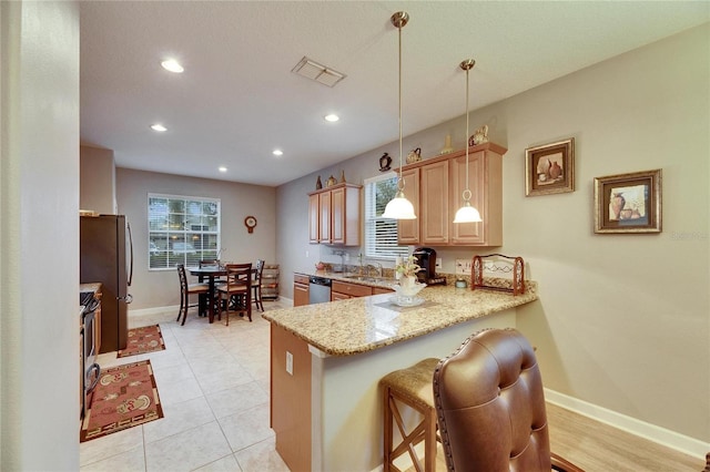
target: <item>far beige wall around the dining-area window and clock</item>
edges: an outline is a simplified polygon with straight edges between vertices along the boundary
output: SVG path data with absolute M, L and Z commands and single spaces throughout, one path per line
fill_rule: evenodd
M 209 178 L 183 177 L 155 172 L 116 170 L 119 214 L 126 216 L 133 232 L 133 295 L 131 310 L 180 305 L 178 273 L 148 270 L 148 194 L 184 195 L 222 201 L 222 247 L 224 261 L 267 264 L 276 260 L 276 189 L 260 185 Z M 254 233 L 244 218 L 255 216 Z M 176 316 L 176 314 L 175 314 Z

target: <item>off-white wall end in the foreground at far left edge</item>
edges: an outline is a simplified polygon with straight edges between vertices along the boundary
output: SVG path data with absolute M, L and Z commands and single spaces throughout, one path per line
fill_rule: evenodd
M 0 470 L 79 470 L 79 11 L 0 3 Z

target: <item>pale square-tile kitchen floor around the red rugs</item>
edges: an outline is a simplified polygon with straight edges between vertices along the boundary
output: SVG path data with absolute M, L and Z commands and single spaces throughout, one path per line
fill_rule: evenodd
M 233 315 L 229 327 L 193 310 L 185 326 L 175 317 L 131 321 L 160 324 L 165 350 L 99 356 L 102 368 L 150 359 L 164 418 L 81 443 L 81 471 L 288 471 L 268 427 L 268 322 L 258 311 L 253 322 Z

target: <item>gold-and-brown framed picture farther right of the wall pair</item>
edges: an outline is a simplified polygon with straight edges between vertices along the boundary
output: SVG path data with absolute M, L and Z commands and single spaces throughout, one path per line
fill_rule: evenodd
M 595 178 L 595 233 L 660 233 L 661 170 Z

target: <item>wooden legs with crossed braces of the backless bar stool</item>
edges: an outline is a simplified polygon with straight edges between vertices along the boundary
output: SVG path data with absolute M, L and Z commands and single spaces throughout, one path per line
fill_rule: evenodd
M 385 387 L 384 392 L 385 472 L 399 471 L 394 464 L 394 460 L 405 452 L 409 453 L 414 469 L 417 472 L 434 472 L 436 470 L 436 410 L 429 406 L 420 404 L 409 398 L 403 397 L 389 387 Z M 397 402 L 416 410 L 424 417 L 422 422 L 409 432 L 406 431 L 406 425 L 397 407 Z M 397 424 L 399 434 L 403 438 L 397 447 L 394 445 L 394 423 Z M 422 441 L 424 441 L 424 468 L 414 449 Z

